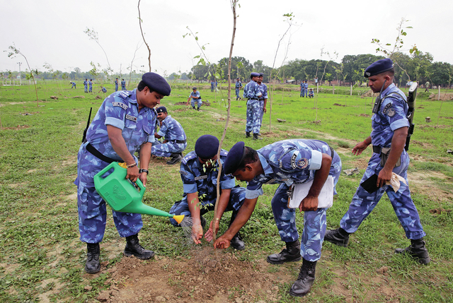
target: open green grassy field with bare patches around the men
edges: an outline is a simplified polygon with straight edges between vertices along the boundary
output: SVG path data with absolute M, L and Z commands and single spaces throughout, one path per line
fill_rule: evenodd
M 144 215 L 141 244 L 156 251 L 157 257 L 152 261 L 129 259 L 122 256 L 125 240 L 118 236 L 108 215 L 101 243 L 101 273 L 86 274 L 86 246 L 79 241 L 72 182 L 89 109 L 96 111 L 105 95 L 84 94 L 82 85 L 70 90 L 66 82 L 47 81 L 38 86 L 39 107 L 33 85 L 0 86 L 0 302 L 453 301 L 453 155 L 447 153 L 453 150 L 453 101 L 419 95 L 409 150 L 408 179 L 428 234 L 425 240 L 432 262 L 419 266 L 394 255 L 395 248 L 405 247 L 409 241 L 384 196 L 351 236 L 348 248 L 324 244 L 314 287 L 308 296 L 298 299 L 287 292 L 301 264 L 273 266 L 265 262 L 268 254 L 284 246 L 270 208 L 275 185 L 263 186 L 265 194 L 241 231 L 245 251 L 214 251 L 205 241 L 195 246 L 165 218 Z M 214 94 L 207 85 L 201 87 L 202 100 L 209 100 L 210 106 L 203 106 L 200 112 L 178 105 L 187 101 L 191 86 L 173 87 L 171 97 L 161 102 L 185 129 L 185 153 L 193 150 L 202 134 L 220 138 L 226 119 L 226 90 Z M 113 85 L 107 88 L 108 93 L 113 92 Z M 93 91 L 98 90 L 95 85 Z M 258 149 L 285 138 L 316 138 L 338 151 L 343 170 L 359 168 L 360 174 L 340 177 L 338 196 L 328 210 L 329 229 L 338 227 L 371 155 L 369 149 L 359 157 L 350 153 L 371 131 L 372 97 L 360 97 L 357 92 L 302 99 L 294 85 L 292 90 L 275 90 L 271 94 L 271 128 L 268 106 L 263 141 L 246 141 Z M 52 95 L 58 100 L 50 99 Z M 96 95 L 101 99 L 96 100 Z M 235 99 L 223 144 L 226 150 L 245 140 L 246 106 Z M 277 123 L 277 119 L 286 122 Z M 152 160 L 144 202 L 168 211 L 183 191 L 179 165 L 165 162 Z M 206 217 L 212 219 L 212 213 Z M 300 228 L 302 218 L 297 216 Z M 220 232 L 226 230 L 228 221 L 222 222 Z

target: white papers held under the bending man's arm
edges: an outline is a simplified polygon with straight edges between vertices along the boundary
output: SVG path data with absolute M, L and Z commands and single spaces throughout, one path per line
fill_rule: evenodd
M 299 208 L 300 203 L 309 194 L 313 180 L 293 184 L 292 198 L 288 199 L 288 208 Z M 333 177 L 328 176 L 318 196 L 318 208 L 330 208 L 333 205 Z

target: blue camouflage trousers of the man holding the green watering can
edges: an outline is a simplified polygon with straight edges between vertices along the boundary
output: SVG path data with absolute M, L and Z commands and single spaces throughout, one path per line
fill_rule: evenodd
M 105 201 L 94 188 L 93 177 L 108 165 L 91 155 L 84 145 L 77 155 L 77 208 L 79 210 L 80 240 L 87 243 L 99 243 L 105 232 L 107 209 Z M 137 161 L 137 159 L 135 159 Z M 112 211 L 113 222 L 121 237 L 137 234 L 142 229 L 142 215 Z

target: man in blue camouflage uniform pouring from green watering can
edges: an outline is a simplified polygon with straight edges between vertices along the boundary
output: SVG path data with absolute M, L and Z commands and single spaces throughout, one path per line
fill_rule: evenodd
M 111 162 L 125 162 L 126 178 L 132 182 L 139 178 L 144 185 L 147 184 L 156 124 L 154 106 L 170 92 L 170 85 L 164 78 L 156 73 L 145 73 L 136 89 L 122 90 L 106 97 L 86 131 L 77 155 L 74 184 L 77 186 L 80 239 L 86 242 L 88 250 L 87 273 L 101 270 L 99 242 L 104 236 L 107 214 L 105 201 L 95 189 L 93 176 Z M 140 155 L 139 166 L 134 156 L 136 151 Z M 139 259 L 154 256 L 153 251 L 139 244 L 137 234 L 143 226 L 141 215 L 113 210 L 113 221 L 120 237 L 126 238 L 126 256 L 133 255 Z

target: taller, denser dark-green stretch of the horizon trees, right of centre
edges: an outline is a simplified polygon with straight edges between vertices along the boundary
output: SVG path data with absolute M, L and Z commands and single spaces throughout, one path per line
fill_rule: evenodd
M 365 81 L 363 73 L 369 64 L 383 56 L 373 54 L 345 55 L 340 63 L 331 60 L 302 60 L 289 61 L 279 69 L 272 69 L 265 66 L 262 60 L 253 64 L 243 57 L 231 59 L 231 78 L 241 78 L 241 81 L 248 81 L 252 71 L 264 73 L 264 82 L 285 82 L 294 80 L 294 83 L 307 80 L 313 81 L 318 78 L 323 83 L 337 81 L 340 85 L 360 84 Z M 447 62 L 434 62 L 430 53 L 420 52 L 411 56 L 403 53 L 396 53 L 393 56 L 395 64 L 395 82 L 399 85 L 406 85 L 408 81 L 425 83 L 429 81 L 433 85 L 451 85 L 453 82 L 453 66 Z M 226 81 L 227 58 L 222 58 L 217 64 L 195 65 L 190 69 L 187 77 L 196 81 L 211 81 L 207 77 L 208 71 L 220 71 L 221 79 Z M 278 73 L 277 73 L 278 72 Z M 273 79 L 270 79 L 270 75 Z

